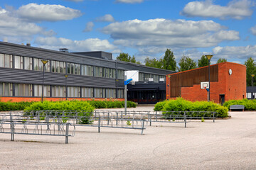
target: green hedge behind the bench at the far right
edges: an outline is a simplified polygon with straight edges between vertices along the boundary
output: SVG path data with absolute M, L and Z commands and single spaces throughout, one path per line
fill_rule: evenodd
M 223 106 L 230 109 L 231 105 L 243 105 L 245 106 L 245 110 L 247 111 L 256 111 L 256 100 L 248 100 L 247 98 L 244 98 L 242 100 L 230 100 L 226 101 Z

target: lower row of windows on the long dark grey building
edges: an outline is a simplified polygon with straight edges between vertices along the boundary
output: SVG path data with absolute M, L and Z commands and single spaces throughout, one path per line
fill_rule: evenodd
M 68 97 L 73 98 L 124 98 L 123 89 L 68 86 Z M 43 86 L 45 97 L 65 97 L 65 86 Z M 0 96 L 42 96 L 42 85 L 0 83 Z

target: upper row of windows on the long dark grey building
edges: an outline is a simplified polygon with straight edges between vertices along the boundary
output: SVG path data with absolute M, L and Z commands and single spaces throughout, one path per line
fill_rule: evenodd
M 13 56 L 0 54 L 0 67 L 13 68 Z M 41 62 L 41 59 L 38 58 L 14 55 L 14 68 L 43 71 L 43 63 Z M 46 72 L 65 74 L 66 69 L 67 74 L 78 74 L 91 77 L 106 77 L 112 79 L 124 79 L 124 70 L 121 69 L 116 70 L 105 67 L 96 67 L 85 64 L 75 64 L 70 62 L 66 63 L 53 60 L 50 60 L 50 62 L 46 63 L 45 65 Z M 146 74 L 140 72 L 139 81 L 154 81 L 158 83 L 159 81 L 165 81 L 165 77 L 156 74 Z

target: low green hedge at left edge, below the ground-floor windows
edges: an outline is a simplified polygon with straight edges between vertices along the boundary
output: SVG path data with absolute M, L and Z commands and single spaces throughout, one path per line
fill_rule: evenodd
M 33 102 L 0 102 L 0 111 L 22 111 Z

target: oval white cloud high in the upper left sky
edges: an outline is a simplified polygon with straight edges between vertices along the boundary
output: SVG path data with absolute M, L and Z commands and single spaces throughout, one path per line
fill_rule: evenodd
M 27 4 L 16 11 L 18 16 L 29 21 L 65 21 L 82 15 L 79 10 L 61 5 Z

